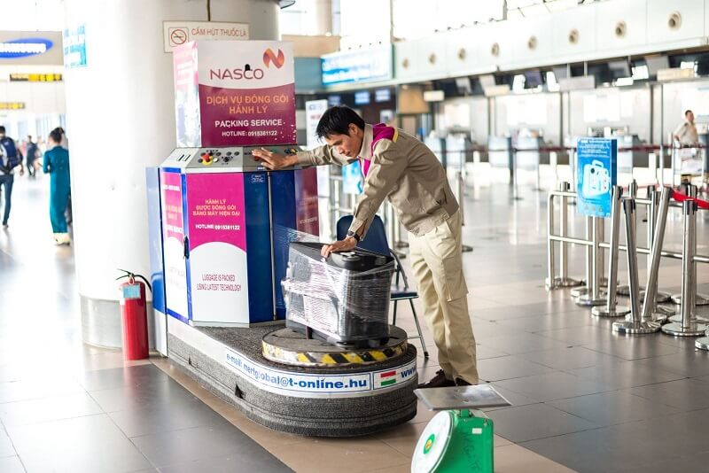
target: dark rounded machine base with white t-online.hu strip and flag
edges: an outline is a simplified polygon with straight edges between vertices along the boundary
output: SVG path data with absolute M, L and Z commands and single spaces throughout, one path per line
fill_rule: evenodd
M 273 327 L 195 328 L 170 318 L 169 358 L 215 395 L 271 429 L 356 437 L 405 423 L 417 412 L 417 354 L 331 368 L 288 366 L 261 354 Z

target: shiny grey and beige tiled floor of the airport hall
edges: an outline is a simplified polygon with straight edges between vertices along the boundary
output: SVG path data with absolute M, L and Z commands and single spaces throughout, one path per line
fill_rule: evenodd
M 11 227 L 0 230 L 0 472 L 409 471 L 432 417 L 423 407 L 368 438 L 302 438 L 247 420 L 167 360 L 124 363 L 121 353 L 82 345 L 74 254 L 51 244 L 46 185 L 20 179 Z M 471 187 L 465 207 L 480 376 L 513 404 L 488 412 L 495 470 L 705 469 L 709 353 L 659 334 L 619 337 L 568 291 L 545 291 L 546 198 L 523 196 L 511 201 L 504 184 Z M 574 223 L 581 236 L 582 221 Z M 698 229 L 707 252 L 705 220 Z M 679 248 L 680 233 L 673 216 L 666 247 Z M 582 260 L 573 248 L 573 275 Z M 676 292 L 679 269 L 663 262 L 660 287 Z M 705 267 L 699 281 L 709 291 Z M 422 378 L 438 369 L 425 336 L 432 358 L 419 357 Z

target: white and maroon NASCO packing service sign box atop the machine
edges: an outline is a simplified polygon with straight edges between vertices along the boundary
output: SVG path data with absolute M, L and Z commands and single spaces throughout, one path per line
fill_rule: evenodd
M 177 146 L 296 143 L 292 43 L 184 43 L 174 66 Z

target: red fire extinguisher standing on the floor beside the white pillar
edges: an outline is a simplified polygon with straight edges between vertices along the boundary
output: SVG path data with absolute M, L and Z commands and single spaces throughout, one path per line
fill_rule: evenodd
M 148 313 L 145 300 L 145 286 L 152 291 L 150 283 L 142 275 L 136 275 L 125 269 L 126 273 L 116 281 L 128 277 L 128 282 L 121 284 L 121 325 L 123 327 L 123 359 L 143 360 L 148 358 Z M 143 281 L 136 281 L 136 278 Z

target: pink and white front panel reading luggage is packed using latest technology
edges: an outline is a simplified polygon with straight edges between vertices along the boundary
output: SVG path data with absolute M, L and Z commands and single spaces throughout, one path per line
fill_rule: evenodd
M 244 174 L 187 174 L 192 322 L 249 322 Z

